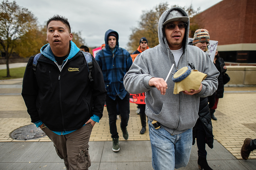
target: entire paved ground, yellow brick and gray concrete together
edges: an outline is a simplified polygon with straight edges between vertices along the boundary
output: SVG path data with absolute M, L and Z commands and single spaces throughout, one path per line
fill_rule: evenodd
M 57 156 L 48 137 L 36 140 L 14 140 L 9 134 L 21 126 L 31 124 L 25 103 L 21 97 L 22 79 L 0 80 L 0 169 L 63 169 L 64 163 Z M 256 138 L 256 87 L 225 88 L 224 98 L 219 100 L 213 123 L 214 148 L 206 146 L 207 160 L 213 169 L 256 169 L 256 152 L 244 161 L 240 156 L 243 140 Z M 120 139 L 120 151 L 112 151 L 107 110 L 96 123 L 89 142 L 92 165 L 90 170 L 153 169 L 148 128 L 141 129 L 136 105 L 130 104 L 128 122 L 129 140 Z M 117 124 L 120 120 L 117 120 Z M 120 127 L 119 136 L 122 136 Z M 192 146 L 190 161 L 180 169 L 196 170 L 197 146 Z

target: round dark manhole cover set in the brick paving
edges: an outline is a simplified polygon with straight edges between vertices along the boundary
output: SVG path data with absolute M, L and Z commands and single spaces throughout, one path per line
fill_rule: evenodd
M 18 128 L 11 132 L 10 137 L 16 140 L 30 140 L 38 139 L 46 136 L 46 134 L 40 129 L 37 128 L 35 124 L 30 124 Z

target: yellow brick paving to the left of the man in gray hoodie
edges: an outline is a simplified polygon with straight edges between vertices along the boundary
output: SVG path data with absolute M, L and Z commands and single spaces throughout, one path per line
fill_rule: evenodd
M 127 126 L 127 131 L 129 134 L 128 140 L 149 140 L 149 132 L 146 130 L 145 134 L 140 134 L 141 122 L 139 115 L 135 114 L 137 110 L 137 105 L 134 103 L 130 104 L 130 118 Z M 27 108 L 22 99 L 22 96 L 0 96 L 0 112 L 4 111 L 26 111 Z M 9 137 L 9 134 L 22 126 L 32 124 L 28 115 L 26 118 L 0 118 L 0 142 L 11 142 L 11 141 L 23 141 L 23 140 L 13 140 Z M 119 132 L 119 140 L 124 140 L 122 138 L 122 131 L 120 129 L 120 118 L 117 119 L 117 130 Z M 148 128 L 147 128 L 148 129 Z M 111 140 L 111 134 L 109 131 L 107 108 L 104 107 L 103 117 L 100 123 L 96 123 L 92 130 L 90 141 L 107 141 Z M 48 137 L 39 138 L 36 140 L 27 140 L 27 142 L 34 141 L 51 141 Z

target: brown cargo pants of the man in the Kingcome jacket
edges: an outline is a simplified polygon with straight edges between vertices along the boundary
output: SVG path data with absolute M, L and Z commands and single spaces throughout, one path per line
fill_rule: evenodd
M 42 130 L 52 140 L 57 155 L 64 160 L 67 170 L 87 170 L 91 166 L 88 142 L 92 128 L 92 124 L 88 123 L 82 128 L 65 135 L 55 134 L 45 125 L 43 125 Z

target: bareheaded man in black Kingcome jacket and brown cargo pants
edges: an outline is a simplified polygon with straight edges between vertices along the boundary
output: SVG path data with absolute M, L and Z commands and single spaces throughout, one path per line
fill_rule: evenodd
M 107 93 L 103 75 L 92 57 L 90 81 L 85 56 L 91 56 L 72 42 L 66 18 L 55 15 L 46 27 L 49 44 L 41 48 L 38 60 L 29 59 L 21 94 L 31 122 L 52 140 L 66 168 L 88 169 L 88 142 Z

